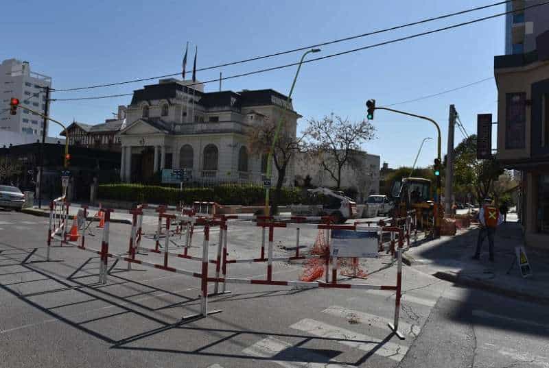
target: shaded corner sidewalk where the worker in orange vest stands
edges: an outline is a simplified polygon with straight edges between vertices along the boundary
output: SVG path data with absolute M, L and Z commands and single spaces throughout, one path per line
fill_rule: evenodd
M 456 284 L 549 304 L 549 250 L 526 248 L 532 276 L 522 278 L 515 260 L 515 247 L 524 245 L 521 228 L 516 214 L 508 214 L 507 221 L 495 235 L 495 262 L 488 260 L 488 239 L 484 240 L 480 260 L 471 260 L 478 237 L 476 227 L 412 247 L 404 254 L 404 261 L 418 271 Z

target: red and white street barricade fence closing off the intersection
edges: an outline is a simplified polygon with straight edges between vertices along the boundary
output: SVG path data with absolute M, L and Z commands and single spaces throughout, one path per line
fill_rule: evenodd
M 128 212 L 132 215 L 132 225 L 128 238 L 128 252 L 124 254 L 115 254 L 109 252 L 109 232 L 110 232 L 110 214 L 113 210 L 101 208 L 100 212 L 104 218 L 104 228 L 102 232 L 102 241 L 100 249 L 93 249 L 86 245 L 85 232 L 79 236 L 78 241 L 71 241 L 67 236 L 67 220 L 70 204 L 65 201 L 65 198 L 60 197 L 50 204 L 49 230 L 47 238 L 47 259 L 49 260 L 50 247 L 54 241 L 59 241 L 61 246 L 71 246 L 86 252 L 91 252 L 100 256 L 100 284 L 108 282 L 108 258 L 113 258 L 117 261 L 128 262 L 128 269 L 131 269 L 132 264 L 141 265 L 143 267 L 151 267 L 163 271 L 179 273 L 200 280 L 200 313 L 197 315 L 187 316 L 186 318 L 202 316 L 206 317 L 212 313 L 220 312 L 221 310 L 208 310 L 208 297 L 220 293 L 227 293 L 226 284 L 258 284 L 270 286 L 292 286 L 295 288 L 320 288 L 320 289 L 362 289 L 362 290 L 382 290 L 396 293 L 395 298 L 395 316 L 393 323 L 389 324 L 390 329 L 404 339 L 404 335 L 398 331 L 399 310 L 401 302 L 401 282 L 402 282 L 402 252 L 404 245 L 404 230 L 399 227 L 379 227 L 371 225 L 334 225 L 331 224 L 329 218 L 320 217 L 294 217 L 283 219 L 281 217 L 255 217 L 255 221 L 242 221 L 236 216 L 220 217 L 198 217 L 196 213 L 186 212 L 183 209 L 176 209 L 176 213 L 169 213 L 166 210 L 159 211 L 159 219 L 164 224 L 165 238 L 163 241 L 163 249 L 159 249 L 159 240 L 156 239 L 154 247 L 143 247 L 141 244 L 141 226 L 143 223 L 143 210 L 145 206 L 137 206 Z M 84 216 L 86 216 L 87 208 L 84 206 Z M 238 221 L 241 220 L 241 221 Z M 288 221 L 288 222 L 285 222 Z M 294 221 L 294 222 L 291 222 Z M 306 223 L 305 221 L 325 221 L 325 223 Z M 173 236 L 170 231 L 173 223 L 185 224 L 186 226 L 203 226 L 204 238 L 202 241 L 202 256 L 190 256 L 187 252 L 191 245 L 191 236 L 187 231 L 185 238 L 185 246 L 183 251 L 174 252 L 170 250 L 170 240 Z M 211 228 L 219 227 L 219 241 L 217 252 L 213 259 L 209 256 L 209 243 L 211 238 Z M 229 228 L 233 227 L 250 227 L 257 228 L 261 232 L 261 247 L 259 258 L 248 259 L 229 259 Z M 325 234 L 329 252 L 327 254 L 300 254 L 300 231 L 303 229 L 314 229 Z M 274 257 L 273 244 L 275 232 L 288 232 L 295 230 L 296 232 L 296 254 L 294 256 Z M 357 284 L 340 282 L 338 280 L 338 258 L 339 257 L 377 257 L 378 252 L 385 249 L 383 247 L 382 235 L 389 233 L 391 241 L 388 248 L 395 256 L 397 262 L 396 281 L 393 285 L 374 285 L 374 284 Z M 396 246 L 397 245 L 397 246 Z M 173 247 L 172 247 L 173 248 Z M 137 258 L 142 254 L 138 251 L 146 250 L 148 252 L 158 253 L 163 255 L 162 262 L 151 262 Z M 187 260 L 196 261 L 200 271 L 191 271 L 188 269 L 177 268 L 170 263 L 170 256 L 176 258 L 185 258 Z M 302 281 L 302 280 L 275 280 L 272 272 L 272 262 L 290 261 L 290 260 L 305 260 L 307 258 L 318 258 L 323 260 L 325 264 L 325 280 Z M 228 273 L 228 265 L 242 262 L 266 262 L 266 278 L 258 280 L 256 278 L 230 278 Z M 213 270 L 215 276 L 209 275 L 209 265 L 215 265 Z M 331 265 L 331 273 L 329 267 Z M 331 275 L 331 280 L 330 276 Z M 208 294 L 209 284 L 213 283 L 213 294 Z M 220 289 L 221 286 L 221 290 Z

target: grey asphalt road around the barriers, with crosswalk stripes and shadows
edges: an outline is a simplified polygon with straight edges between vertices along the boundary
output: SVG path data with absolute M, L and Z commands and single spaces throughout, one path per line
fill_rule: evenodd
M 0 212 L 0 367 L 549 367 L 546 307 L 458 289 L 408 267 L 404 341 L 386 327 L 394 311 L 390 291 L 230 284 L 230 294 L 209 299 L 209 309 L 222 312 L 181 322 L 200 308 L 198 279 L 138 265 L 128 271 L 111 261 L 108 284 L 100 285 L 93 254 L 54 247 L 45 262 L 46 222 Z M 129 230 L 112 224 L 110 252 L 126 252 Z M 145 223 L 145 232 L 153 230 Z M 99 249 L 100 230 L 93 232 L 86 243 Z M 197 255 L 201 236 L 197 229 Z M 294 252 L 294 233 L 276 230 L 274 238 L 275 255 Z M 315 238 L 302 230 L 301 252 Z M 259 229 L 229 227 L 231 256 L 258 257 L 260 242 Z M 194 271 L 197 263 L 170 259 Z M 264 264 L 230 266 L 232 277 L 265 278 Z M 362 268 L 368 280 L 354 282 L 395 282 L 388 256 Z M 277 280 L 296 280 L 302 271 L 300 263 L 274 264 Z

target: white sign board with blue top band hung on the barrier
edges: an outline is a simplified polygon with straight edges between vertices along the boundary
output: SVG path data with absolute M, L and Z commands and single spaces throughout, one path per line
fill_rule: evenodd
M 334 257 L 377 257 L 377 232 L 332 230 L 331 255 Z

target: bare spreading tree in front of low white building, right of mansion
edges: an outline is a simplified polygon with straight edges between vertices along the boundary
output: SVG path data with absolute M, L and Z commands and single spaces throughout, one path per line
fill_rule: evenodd
M 375 137 L 375 127 L 369 121 L 352 123 L 340 116 L 310 119 L 305 130 L 309 137 L 310 153 L 318 157 L 320 165 L 341 186 L 341 171 L 345 165 L 355 167 L 356 155 L 362 143 Z

